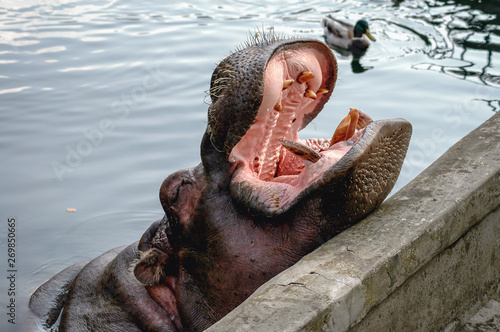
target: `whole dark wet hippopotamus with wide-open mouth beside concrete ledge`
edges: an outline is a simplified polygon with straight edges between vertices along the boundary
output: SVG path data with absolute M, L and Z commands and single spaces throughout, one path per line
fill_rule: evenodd
M 201 163 L 168 176 L 138 242 L 73 265 L 32 295 L 59 331 L 201 331 L 376 209 L 411 125 L 352 108 L 332 138 L 299 139 L 337 79 L 314 39 L 267 36 L 215 68 Z

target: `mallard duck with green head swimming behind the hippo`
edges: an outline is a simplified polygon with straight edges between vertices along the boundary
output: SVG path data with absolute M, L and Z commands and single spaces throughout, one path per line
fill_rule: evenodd
M 324 28 L 325 38 L 333 47 L 349 50 L 352 53 L 363 53 L 370 46 L 368 38 L 376 41 L 370 33 L 368 22 L 359 20 L 355 25 L 339 21 L 331 15 L 321 21 Z M 366 37 L 368 38 L 366 38 Z

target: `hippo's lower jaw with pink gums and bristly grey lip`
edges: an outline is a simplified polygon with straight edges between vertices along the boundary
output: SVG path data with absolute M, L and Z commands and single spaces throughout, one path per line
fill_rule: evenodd
M 235 170 L 231 181 L 231 194 L 237 201 L 244 202 L 247 207 L 261 214 L 279 215 L 314 190 L 337 180 L 340 172 L 359 165 L 360 160 L 373 158 L 370 155 L 376 150 L 380 150 L 379 159 L 372 160 L 373 164 L 383 165 L 382 168 L 385 166 L 391 171 L 391 177 L 394 179 L 387 181 L 390 178 L 380 178 L 386 183 L 379 189 L 392 188 L 396 180 L 393 170 L 399 168 L 400 162 L 404 159 L 406 152 L 404 147 L 408 144 L 410 134 L 411 126 L 406 120 L 393 119 L 370 123 L 366 128 L 357 131 L 349 140 L 331 146 L 329 139 L 298 140 L 297 145 L 301 146 L 297 148 L 299 153 L 302 154 L 304 151 L 305 154 L 309 147 L 313 150 L 309 154 L 317 155 L 319 159 L 311 161 L 310 157 L 298 156 L 298 153 L 290 152 L 283 146 L 275 163 L 275 177 L 268 180 L 262 180 L 257 176 L 251 169 L 250 161 L 240 159 L 239 167 Z M 391 155 L 383 151 L 387 146 L 402 148 L 396 149 Z M 368 176 L 378 177 L 376 171 L 373 168 L 367 170 L 367 182 L 373 182 Z

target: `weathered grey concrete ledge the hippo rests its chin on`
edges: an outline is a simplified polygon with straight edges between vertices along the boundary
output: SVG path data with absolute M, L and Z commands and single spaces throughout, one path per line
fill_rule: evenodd
M 500 114 L 208 331 L 453 331 L 498 296 Z

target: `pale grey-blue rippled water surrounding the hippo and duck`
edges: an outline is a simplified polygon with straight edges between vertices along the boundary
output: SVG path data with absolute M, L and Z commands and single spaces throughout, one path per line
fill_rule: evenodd
M 499 8 L 498 0 L 1 2 L 0 211 L 20 225 L 18 318 L 43 280 L 137 240 L 161 216 L 163 178 L 200 161 L 214 63 L 249 32 L 322 39 L 326 15 L 369 21 L 377 41 L 361 57 L 335 51 L 336 89 L 301 136 L 331 137 L 349 107 L 408 119 L 414 134 L 398 189 L 500 108 Z

